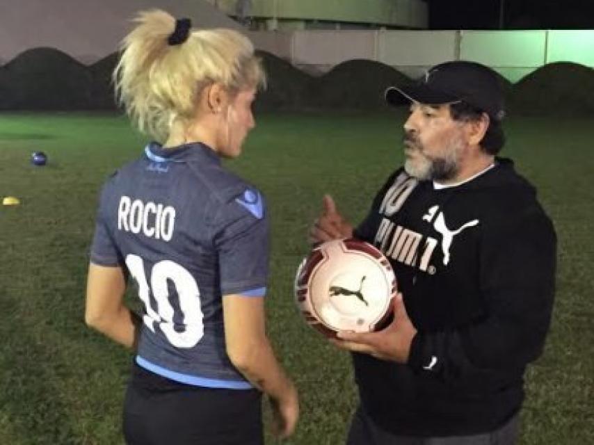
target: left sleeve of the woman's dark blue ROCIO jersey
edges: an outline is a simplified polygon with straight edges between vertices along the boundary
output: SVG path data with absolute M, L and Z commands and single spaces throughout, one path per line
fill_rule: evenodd
M 113 234 L 106 218 L 109 205 L 109 183 L 106 184 L 99 198 L 99 209 L 95 221 L 95 234 L 90 248 L 90 261 L 98 266 L 121 266 L 122 254 L 113 240 Z

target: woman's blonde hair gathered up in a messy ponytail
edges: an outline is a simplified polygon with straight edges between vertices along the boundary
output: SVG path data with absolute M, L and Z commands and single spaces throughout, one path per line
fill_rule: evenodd
M 113 72 L 116 97 L 138 129 L 158 141 L 193 118 L 205 86 L 220 83 L 232 93 L 264 86 L 252 43 L 236 31 L 191 30 L 185 42 L 169 44 L 176 21 L 168 13 L 144 11 L 134 22 Z

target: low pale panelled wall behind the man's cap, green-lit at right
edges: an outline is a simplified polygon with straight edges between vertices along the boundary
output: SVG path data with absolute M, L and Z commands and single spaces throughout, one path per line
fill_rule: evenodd
M 251 34 L 254 35 L 254 34 Z M 254 35 L 255 44 L 262 35 Z M 271 38 L 272 36 L 272 38 Z M 474 60 L 516 82 L 546 63 L 568 61 L 594 67 L 591 31 L 294 31 L 268 33 L 266 50 L 311 73 L 346 60 L 368 59 L 408 76 L 446 60 Z

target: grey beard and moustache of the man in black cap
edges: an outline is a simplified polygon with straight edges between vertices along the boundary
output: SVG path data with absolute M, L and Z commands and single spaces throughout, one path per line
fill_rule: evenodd
M 458 156 L 464 147 L 463 140 L 452 138 L 445 141 L 442 154 L 427 156 L 424 154 L 423 145 L 418 138 L 406 133 L 404 136 L 406 150 L 415 154 L 404 162 L 404 170 L 421 181 L 447 181 L 458 175 Z

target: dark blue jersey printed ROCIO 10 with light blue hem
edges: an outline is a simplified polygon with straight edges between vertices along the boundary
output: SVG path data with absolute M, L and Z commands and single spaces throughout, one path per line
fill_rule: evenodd
M 204 387 L 248 389 L 225 350 L 222 296 L 266 293 L 268 220 L 256 188 L 196 143 L 145 154 L 105 184 L 91 261 L 138 285 L 136 362 Z

